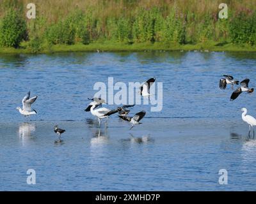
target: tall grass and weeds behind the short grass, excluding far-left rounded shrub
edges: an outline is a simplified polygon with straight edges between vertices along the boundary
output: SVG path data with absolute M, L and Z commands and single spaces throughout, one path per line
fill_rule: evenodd
M 30 0 L 1 0 L 26 15 Z M 221 0 L 34 0 L 36 20 L 27 19 L 29 40 L 72 45 L 125 43 L 256 43 L 256 1 L 226 0 L 228 19 L 218 18 Z M 36 45 L 36 43 L 34 43 Z M 33 45 L 33 43 L 31 43 Z

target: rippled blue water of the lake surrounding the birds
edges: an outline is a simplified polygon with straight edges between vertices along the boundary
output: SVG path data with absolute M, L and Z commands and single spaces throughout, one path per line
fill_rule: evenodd
M 256 88 L 256 54 L 120 52 L 0 56 L 0 190 L 255 191 L 256 139 L 241 108 L 256 117 L 256 95 L 229 101 L 221 75 L 248 77 Z M 108 128 L 83 109 L 95 82 L 163 82 L 163 110 L 145 110 L 129 130 L 116 115 Z M 15 109 L 26 92 L 37 115 Z M 115 105 L 104 105 L 115 108 Z M 53 126 L 66 129 L 56 143 Z M 143 138 L 143 141 L 136 140 Z M 26 171 L 36 171 L 28 185 Z M 221 185 L 218 171 L 228 171 Z

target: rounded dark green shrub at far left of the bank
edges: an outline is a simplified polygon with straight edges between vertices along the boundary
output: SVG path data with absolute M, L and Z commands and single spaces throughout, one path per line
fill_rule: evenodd
M 0 28 L 0 45 L 3 47 L 19 47 L 26 39 L 26 21 L 15 10 L 10 10 L 4 16 Z

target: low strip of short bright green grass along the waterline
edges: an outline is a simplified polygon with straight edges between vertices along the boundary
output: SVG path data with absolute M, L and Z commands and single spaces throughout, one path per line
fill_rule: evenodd
M 32 54 L 33 52 L 24 47 L 20 48 L 1 48 L 0 54 Z M 248 45 L 234 45 L 232 43 L 198 43 L 196 45 L 179 45 L 179 43 L 171 43 L 169 45 L 163 43 L 134 43 L 127 45 L 126 43 L 113 43 L 105 41 L 103 43 L 76 43 L 75 45 L 52 45 L 45 47 L 38 54 L 49 54 L 55 52 L 150 52 L 150 51 L 204 51 L 204 52 L 256 52 L 256 47 Z

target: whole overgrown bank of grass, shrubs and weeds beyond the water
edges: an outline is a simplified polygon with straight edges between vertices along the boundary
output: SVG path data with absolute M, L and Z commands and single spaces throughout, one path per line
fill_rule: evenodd
M 225 1 L 227 19 L 218 17 L 218 0 L 35 0 L 30 20 L 28 3 L 0 1 L 0 53 L 254 51 L 256 45 L 255 0 Z

